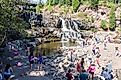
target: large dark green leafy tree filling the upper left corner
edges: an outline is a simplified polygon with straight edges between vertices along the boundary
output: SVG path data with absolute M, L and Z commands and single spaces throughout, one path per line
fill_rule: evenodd
M 28 27 L 27 23 L 19 17 L 21 14 L 21 11 L 18 9 L 19 4 L 22 4 L 22 2 L 0 0 L 0 44 L 9 40 L 11 38 L 10 35 L 18 36 L 23 34 L 25 27 Z

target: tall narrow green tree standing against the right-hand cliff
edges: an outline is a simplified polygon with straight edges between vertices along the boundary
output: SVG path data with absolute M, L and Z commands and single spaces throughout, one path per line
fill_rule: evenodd
M 109 29 L 111 31 L 114 31 L 116 28 L 116 17 L 115 17 L 115 7 L 111 8 L 111 12 L 110 12 L 110 18 L 109 18 Z

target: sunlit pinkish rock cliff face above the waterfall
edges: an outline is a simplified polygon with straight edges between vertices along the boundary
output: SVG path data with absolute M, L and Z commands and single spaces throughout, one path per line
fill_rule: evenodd
M 109 15 L 111 8 L 105 6 L 99 6 L 97 11 L 92 10 L 88 6 L 81 5 L 77 13 L 71 13 L 70 9 L 65 14 L 64 10 L 59 6 L 54 6 L 51 11 L 45 10 L 44 13 L 44 26 L 46 27 L 58 27 L 59 17 L 71 18 L 72 20 L 78 20 L 83 26 L 83 29 L 90 27 L 100 28 L 101 20 L 107 21 L 109 23 Z M 116 23 L 117 26 L 121 24 L 120 14 L 121 8 L 117 7 L 116 13 Z

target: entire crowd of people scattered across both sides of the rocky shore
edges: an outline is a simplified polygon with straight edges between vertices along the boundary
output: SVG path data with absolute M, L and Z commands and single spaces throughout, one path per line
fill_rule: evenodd
M 92 40 L 91 40 L 92 39 Z M 68 68 L 67 73 L 65 77 L 67 80 L 95 80 L 95 78 L 99 78 L 100 80 L 113 80 L 113 69 L 112 69 L 112 61 L 109 61 L 106 66 L 102 66 L 100 64 L 100 57 L 102 56 L 100 47 L 97 46 L 97 44 L 103 44 L 103 50 L 107 50 L 108 43 L 111 43 L 111 38 L 109 36 L 105 36 L 104 40 L 101 41 L 97 36 L 95 37 L 89 37 L 88 39 L 84 39 L 83 44 L 81 44 L 81 50 L 86 55 L 86 57 L 80 57 L 77 53 L 78 49 L 67 49 L 65 52 L 63 51 L 63 54 L 66 54 L 65 57 L 65 63 L 68 63 L 70 61 L 72 64 L 75 64 L 74 68 L 76 69 L 77 75 L 73 75 L 73 69 Z M 10 45 L 10 44 L 9 44 Z M 20 45 L 18 43 L 18 45 Z M 86 50 L 86 47 L 88 46 L 92 47 L 92 52 L 89 53 L 88 50 Z M 11 48 L 13 50 L 14 56 L 17 56 L 15 49 Z M 119 47 L 114 47 L 115 52 L 114 54 L 116 56 L 121 57 L 121 52 L 119 50 Z M 38 63 L 38 70 L 42 70 L 43 66 L 43 55 L 41 52 L 38 52 L 38 55 L 34 55 L 34 46 L 26 47 L 26 56 L 28 56 L 28 61 L 30 64 L 30 69 L 33 68 L 33 65 L 35 62 Z M 89 53 L 89 54 L 88 54 Z M 92 57 L 93 56 L 93 57 Z M 16 63 L 17 66 L 21 66 L 21 62 Z M 96 70 L 102 68 L 100 73 L 97 75 Z M 3 68 L 2 62 L 0 62 L 0 80 L 11 80 L 11 78 L 14 78 L 15 75 L 13 74 L 13 70 L 10 64 L 6 64 L 6 66 Z

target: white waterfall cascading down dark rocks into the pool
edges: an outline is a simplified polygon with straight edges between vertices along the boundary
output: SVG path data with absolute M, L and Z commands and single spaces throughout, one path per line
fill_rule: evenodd
M 75 21 L 72 21 L 73 25 L 70 24 L 69 20 L 64 20 L 63 18 L 60 18 L 62 21 L 62 31 L 61 31 L 61 42 L 62 42 L 62 47 L 64 47 L 64 42 L 71 40 L 76 40 L 78 43 L 80 43 L 81 40 L 81 34 L 78 29 L 78 24 Z M 66 22 L 68 24 L 66 24 Z M 68 28 L 67 28 L 68 27 Z M 72 29 L 74 27 L 74 29 Z

